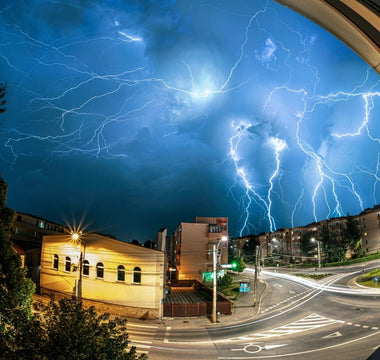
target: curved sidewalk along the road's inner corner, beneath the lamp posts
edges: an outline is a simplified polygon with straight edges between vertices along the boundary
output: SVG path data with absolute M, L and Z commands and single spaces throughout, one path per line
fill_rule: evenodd
M 267 285 L 265 282 L 258 279 L 257 295 L 254 294 L 254 279 L 252 275 L 240 274 L 234 277 L 234 283 L 239 284 L 241 280 L 249 281 L 251 291 L 248 293 L 240 293 L 237 300 L 232 306 L 232 314 L 217 316 L 217 322 L 212 323 L 211 319 L 206 316 L 201 317 L 162 317 L 161 319 L 148 320 L 149 323 L 157 323 L 168 325 L 172 328 L 192 328 L 192 327 L 221 327 L 232 324 L 244 323 L 256 317 L 260 310 L 261 300 L 264 298 Z M 131 319 L 131 322 L 135 322 Z

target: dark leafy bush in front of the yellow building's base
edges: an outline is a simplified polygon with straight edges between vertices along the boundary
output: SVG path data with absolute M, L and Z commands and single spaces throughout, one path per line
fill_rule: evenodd
M 40 342 L 38 359 L 48 360 L 143 360 L 136 348 L 128 348 L 127 321 L 84 309 L 76 298 L 38 304 Z

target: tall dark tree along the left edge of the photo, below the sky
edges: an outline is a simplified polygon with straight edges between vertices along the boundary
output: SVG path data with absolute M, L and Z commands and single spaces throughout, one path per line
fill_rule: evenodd
M 7 190 L 0 175 L 0 354 L 17 358 L 24 326 L 31 318 L 35 285 L 26 278 L 27 269 L 12 248 L 15 212 L 6 206 Z

